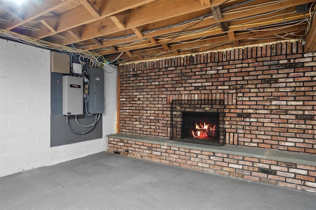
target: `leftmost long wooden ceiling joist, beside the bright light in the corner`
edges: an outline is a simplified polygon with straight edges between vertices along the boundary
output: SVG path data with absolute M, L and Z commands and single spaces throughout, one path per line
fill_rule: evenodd
M 19 27 L 27 22 L 30 22 L 40 16 L 43 16 L 53 10 L 56 10 L 62 6 L 65 6 L 72 2 L 74 0 L 65 0 L 63 2 L 60 2 L 59 0 L 48 0 L 45 1 L 44 4 L 39 6 L 39 3 L 36 1 L 30 1 L 28 2 L 27 8 L 24 8 L 24 20 L 19 21 L 19 20 L 12 20 L 8 21 L 7 23 L 4 24 L 4 29 L 6 30 L 12 30 L 16 27 Z M 37 28 L 37 27 L 34 27 Z

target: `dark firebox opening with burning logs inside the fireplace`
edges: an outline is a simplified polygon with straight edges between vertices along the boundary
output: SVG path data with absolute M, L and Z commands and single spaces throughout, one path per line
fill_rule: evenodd
M 219 141 L 219 113 L 183 112 L 183 141 L 212 144 Z

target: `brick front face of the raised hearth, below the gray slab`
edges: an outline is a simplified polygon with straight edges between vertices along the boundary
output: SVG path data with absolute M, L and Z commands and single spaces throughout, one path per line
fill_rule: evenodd
M 108 151 L 163 164 L 316 192 L 316 167 L 110 138 Z

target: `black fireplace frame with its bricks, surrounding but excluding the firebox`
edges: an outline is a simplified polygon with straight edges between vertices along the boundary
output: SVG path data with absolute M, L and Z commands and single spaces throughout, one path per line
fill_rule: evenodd
M 223 146 L 225 144 L 224 100 L 194 99 L 172 100 L 170 103 L 170 140 L 205 145 Z M 192 141 L 182 139 L 182 120 L 184 112 L 218 113 L 219 139 L 214 142 Z

